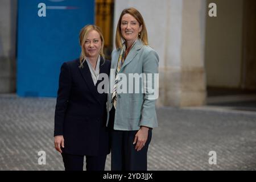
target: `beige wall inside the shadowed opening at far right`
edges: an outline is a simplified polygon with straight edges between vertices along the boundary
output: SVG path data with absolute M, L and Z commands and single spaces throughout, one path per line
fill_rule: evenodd
M 207 86 L 238 88 L 242 64 L 242 0 L 207 0 L 217 17 L 207 16 L 205 70 Z M 209 10 L 209 8 L 208 8 Z

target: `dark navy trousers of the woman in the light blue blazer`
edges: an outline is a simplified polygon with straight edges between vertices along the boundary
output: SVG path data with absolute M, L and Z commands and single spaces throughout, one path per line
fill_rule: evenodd
M 114 130 L 115 109 L 110 110 L 109 127 L 111 129 L 111 170 L 112 171 L 147 171 L 147 150 L 152 138 L 152 130 L 148 130 L 148 138 L 145 146 L 135 150 L 133 144 L 134 131 Z

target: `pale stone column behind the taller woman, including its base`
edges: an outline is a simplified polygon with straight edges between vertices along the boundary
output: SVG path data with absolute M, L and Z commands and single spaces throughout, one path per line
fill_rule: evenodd
M 114 34 L 119 15 L 127 7 L 141 12 L 150 46 L 160 57 L 157 105 L 203 105 L 206 1 L 115 1 Z

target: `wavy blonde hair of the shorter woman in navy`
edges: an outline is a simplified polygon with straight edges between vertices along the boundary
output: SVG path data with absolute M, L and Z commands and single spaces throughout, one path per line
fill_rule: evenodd
M 81 46 L 81 54 L 80 54 L 80 66 L 79 68 L 83 68 L 84 65 L 83 64 L 83 60 L 85 59 L 85 48 L 84 48 L 84 44 L 85 44 L 85 40 L 89 34 L 90 31 L 92 30 L 96 30 L 98 32 L 98 34 L 100 34 L 100 38 L 101 38 L 101 49 L 100 49 L 100 55 L 105 59 L 105 55 L 104 55 L 104 52 L 103 52 L 103 49 L 104 49 L 104 38 L 103 38 L 103 35 L 102 35 L 102 31 L 101 31 L 101 28 L 98 27 L 98 26 L 95 26 L 93 24 L 88 24 L 86 25 L 85 27 L 83 27 L 80 31 L 80 34 L 79 34 L 79 43 L 80 43 L 80 46 Z

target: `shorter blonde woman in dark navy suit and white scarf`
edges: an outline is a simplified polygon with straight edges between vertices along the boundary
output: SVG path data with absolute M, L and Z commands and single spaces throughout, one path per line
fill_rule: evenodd
M 82 28 L 80 46 L 80 58 L 61 66 L 55 109 L 55 148 L 63 156 L 65 170 L 82 170 L 86 156 L 86 170 L 103 171 L 106 155 L 110 153 L 107 94 L 98 92 L 97 87 L 101 82 L 99 75 L 109 75 L 110 61 L 104 59 L 100 28 L 93 25 Z

